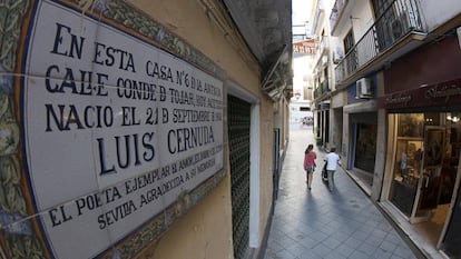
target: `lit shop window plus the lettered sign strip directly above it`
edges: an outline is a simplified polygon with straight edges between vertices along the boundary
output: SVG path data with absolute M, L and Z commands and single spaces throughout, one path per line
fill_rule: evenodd
M 388 120 L 381 202 L 409 223 L 404 230 L 459 258 L 461 79 L 386 94 L 380 106 Z

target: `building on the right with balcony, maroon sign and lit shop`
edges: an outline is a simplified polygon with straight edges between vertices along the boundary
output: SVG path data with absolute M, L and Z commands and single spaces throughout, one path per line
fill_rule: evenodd
M 330 13 L 332 145 L 429 258 L 460 257 L 460 12 L 453 1 L 337 0 Z

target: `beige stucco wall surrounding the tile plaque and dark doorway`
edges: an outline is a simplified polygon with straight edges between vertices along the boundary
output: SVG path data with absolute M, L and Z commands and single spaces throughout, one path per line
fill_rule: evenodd
M 200 1 L 148 1 L 130 3 L 202 51 L 230 80 L 258 99 L 259 104 L 259 219 L 261 243 L 272 203 L 273 106 L 259 90 L 257 62 L 223 36 L 206 16 Z M 226 92 L 226 90 L 225 90 Z M 226 126 L 225 126 L 226 127 Z M 225 132 L 227 132 L 225 130 Z M 225 150 L 228 155 L 227 139 Z M 225 157 L 228 170 L 228 156 Z M 229 172 L 196 207 L 192 208 L 169 230 L 143 252 L 139 258 L 234 258 L 232 241 L 232 205 Z

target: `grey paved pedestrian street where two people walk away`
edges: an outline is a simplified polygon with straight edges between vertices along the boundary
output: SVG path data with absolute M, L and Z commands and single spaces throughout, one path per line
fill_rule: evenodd
M 367 196 L 339 169 L 330 192 L 317 153 L 312 190 L 305 183 L 304 150 L 312 127 L 291 130 L 265 259 L 416 258 Z

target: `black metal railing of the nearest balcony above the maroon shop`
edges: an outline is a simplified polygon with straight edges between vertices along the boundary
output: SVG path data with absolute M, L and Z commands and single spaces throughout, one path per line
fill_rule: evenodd
M 393 1 L 339 62 L 335 68 L 336 82 L 347 78 L 411 31 L 424 32 L 416 0 Z

